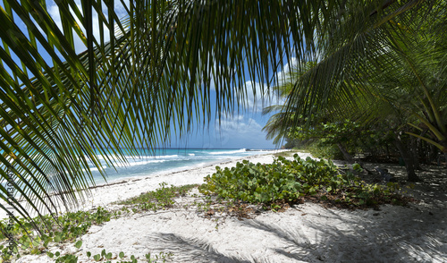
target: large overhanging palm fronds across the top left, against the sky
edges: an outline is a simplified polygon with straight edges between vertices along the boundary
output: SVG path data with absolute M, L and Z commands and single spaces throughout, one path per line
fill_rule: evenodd
M 98 153 L 108 165 L 125 162 L 121 148 L 138 155 L 137 148 L 150 151 L 168 141 L 171 131 L 207 125 L 213 111 L 217 117 L 231 113 L 247 99 L 246 76 L 266 82 L 268 91 L 292 57 L 316 60 L 318 50 L 330 54 L 336 44 L 330 57 L 348 62 L 350 47 L 378 38 L 369 37 L 375 28 L 406 13 L 432 13 L 426 3 L 4 0 L 0 192 L 7 204 L 0 207 L 29 217 L 30 211 L 75 205 L 85 198 L 80 190 L 95 183 L 89 163 L 103 173 Z M 342 37 L 345 46 L 335 41 Z M 347 76 L 349 64 L 331 61 L 317 67 L 312 76 L 320 81 L 312 90 L 336 73 Z M 328 98 L 319 91 L 309 95 L 308 103 L 321 102 L 317 108 Z M 297 108 L 305 111 L 308 103 Z M 24 202 L 13 198 L 15 192 Z

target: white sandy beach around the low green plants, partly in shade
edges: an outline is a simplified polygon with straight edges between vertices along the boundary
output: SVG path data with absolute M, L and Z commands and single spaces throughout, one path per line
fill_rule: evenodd
M 302 154 L 306 157 L 306 154 Z M 245 157 L 271 163 L 271 155 Z M 232 166 L 236 161 L 220 164 Z M 98 187 L 82 209 L 105 206 L 159 183 L 202 183 L 215 165 L 175 174 L 159 174 Z M 390 167 L 400 176 L 402 168 Z M 421 201 L 408 208 L 382 206 L 380 210 L 323 208 L 306 202 L 283 213 L 265 212 L 252 219 L 230 216 L 206 218 L 197 207 L 200 199 L 177 199 L 175 208 L 134 214 L 92 226 L 82 236 L 80 250 L 73 243 L 53 246 L 79 256 L 78 262 L 95 262 L 86 254 L 123 251 L 147 262 L 145 254 L 173 253 L 166 262 L 447 262 L 447 174 L 431 167 L 409 194 Z M 424 177 L 426 176 L 426 178 Z M 46 255 L 26 255 L 16 262 L 54 262 Z M 130 260 L 129 258 L 124 260 Z M 119 258 L 112 262 L 121 261 Z M 163 262 L 163 261 L 158 261 Z

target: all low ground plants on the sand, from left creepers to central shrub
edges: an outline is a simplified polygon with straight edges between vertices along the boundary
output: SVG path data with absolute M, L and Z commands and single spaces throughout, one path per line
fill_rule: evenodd
M 215 216 L 218 212 L 238 218 L 250 217 L 265 209 L 281 211 L 293 204 L 302 203 L 304 199 L 340 208 L 377 208 L 384 203 L 404 205 L 409 201 L 409 198 L 399 194 L 400 187 L 397 183 L 385 186 L 367 184 L 353 173 L 343 173 L 331 161 L 309 157 L 303 160 L 297 154 L 292 159 L 278 156 L 269 165 L 253 164 L 245 160 L 231 169 L 222 169 L 219 166 L 215 168 L 215 174 L 208 175 L 205 183 L 200 186 L 191 184 L 167 187 L 163 182 L 156 191 L 117 202 L 116 204 L 121 205 L 119 209 L 99 207 L 93 211 L 36 217 L 34 223 L 38 225 L 38 229 L 43 229 L 42 233 L 36 233 L 33 225 L 24 219 L 20 219 L 20 224 L 13 227 L 8 227 L 8 221 L 4 219 L 1 222 L 3 231 L 0 233 L 0 240 L 3 240 L 3 245 L 0 246 L 0 262 L 8 262 L 25 254 L 41 253 L 46 253 L 55 262 L 78 262 L 78 256 L 62 255 L 61 252 L 54 251 L 55 246 L 73 243 L 74 247 L 80 249 L 80 237 L 88 233 L 91 225 L 101 225 L 113 218 L 133 213 L 173 208 L 175 198 L 186 196 L 196 187 L 205 195 L 200 198 L 203 202 L 196 200 L 187 207 L 197 208 L 198 213 L 207 217 Z M 353 169 L 355 173 L 361 168 L 354 165 Z M 196 194 L 193 196 L 198 198 Z M 215 220 L 218 227 L 218 217 Z M 9 253 L 10 248 L 6 247 L 8 236 L 13 236 L 16 242 L 12 255 Z M 112 253 L 103 250 L 96 255 L 87 251 L 87 256 L 97 262 L 113 262 L 115 259 L 118 261 L 114 262 L 138 262 L 133 255 L 125 256 L 123 251 Z M 172 253 L 164 251 L 153 256 L 148 253 L 144 262 L 164 262 L 172 256 Z

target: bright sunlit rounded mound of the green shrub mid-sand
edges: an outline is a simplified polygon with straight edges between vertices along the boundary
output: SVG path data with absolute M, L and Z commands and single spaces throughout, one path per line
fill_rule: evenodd
M 337 169 L 331 162 L 294 155 L 274 159 L 270 165 L 256 165 L 244 160 L 235 167 L 221 169 L 205 178 L 199 187 L 204 194 L 216 193 L 223 199 L 240 199 L 250 203 L 271 203 L 276 199 L 292 201 L 314 193 L 322 185 L 338 182 Z

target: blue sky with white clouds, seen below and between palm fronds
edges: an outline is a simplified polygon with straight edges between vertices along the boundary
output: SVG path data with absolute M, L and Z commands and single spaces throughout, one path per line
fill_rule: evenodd
M 80 8 L 80 1 L 75 2 Z M 119 3 L 119 1 L 117 2 Z M 56 24 L 62 28 L 56 5 L 47 3 L 47 9 Z M 80 10 L 82 9 L 80 8 Z M 115 6 L 115 10 L 119 13 L 122 10 L 122 6 Z M 93 21 L 98 21 L 97 13 L 93 14 Z M 20 26 L 25 32 L 24 25 Z M 94 35 L 98 37 L 98 34 L 99 27 L 94 28 Z M 108 36 L 107 31 L 105 31 L 105 36 Z M 107 41 L 108 39 L 105 40 Z M 86 49 L 80 39 L 75 39 L 75 45 L 78 53 Z M 48 62 L 48 64 L 51 64 L 51 62 Z M 287 66 L 284 68 L 287 69 Z M 264 84 L 251 80 L 247 81 L 246 85 L 248 88 L 253 87 L 256 90 L 260 90 Z M 266 140 L 266 132 L 262 131 L 270 115 L 261 114 L 263 106 L 268 106 L 269 103 L 267 101 L 263 102 L 259 93 L 257 92 L 257 96 L 254 96 L 252 92 L 249 92 L 248 107 L 230 118 L 221 120 L 220 125 L 212 121 L 205 129 L 196 129 L 181 140 L 173 138 L 170 146 L 173 148 L 275 148 L 273 141 Z M 210 98 L 212 98 L 211 104 L 214 105 L 215 96 L 212 94 Z M 255 100 L 257 101 L 256 104 L 254 103 Z M 276 104 L 277 100 L 273 98 L 272 102 Z

